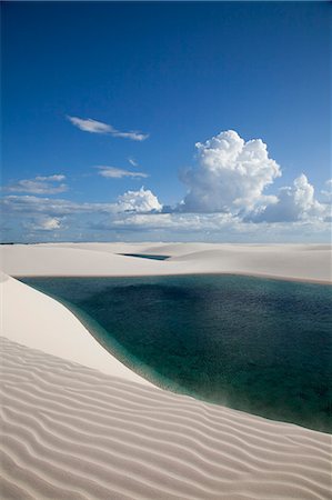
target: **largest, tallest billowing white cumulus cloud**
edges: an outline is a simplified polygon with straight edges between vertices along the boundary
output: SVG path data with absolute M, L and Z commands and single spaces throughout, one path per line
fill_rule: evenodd
M 275 201 L 263 191 L 281 171 L 261 139 L 245 142 L 228 130 L 195 147 L 198 166 L 181 176 L 189 192 L 179 210 L 238 214 Z

